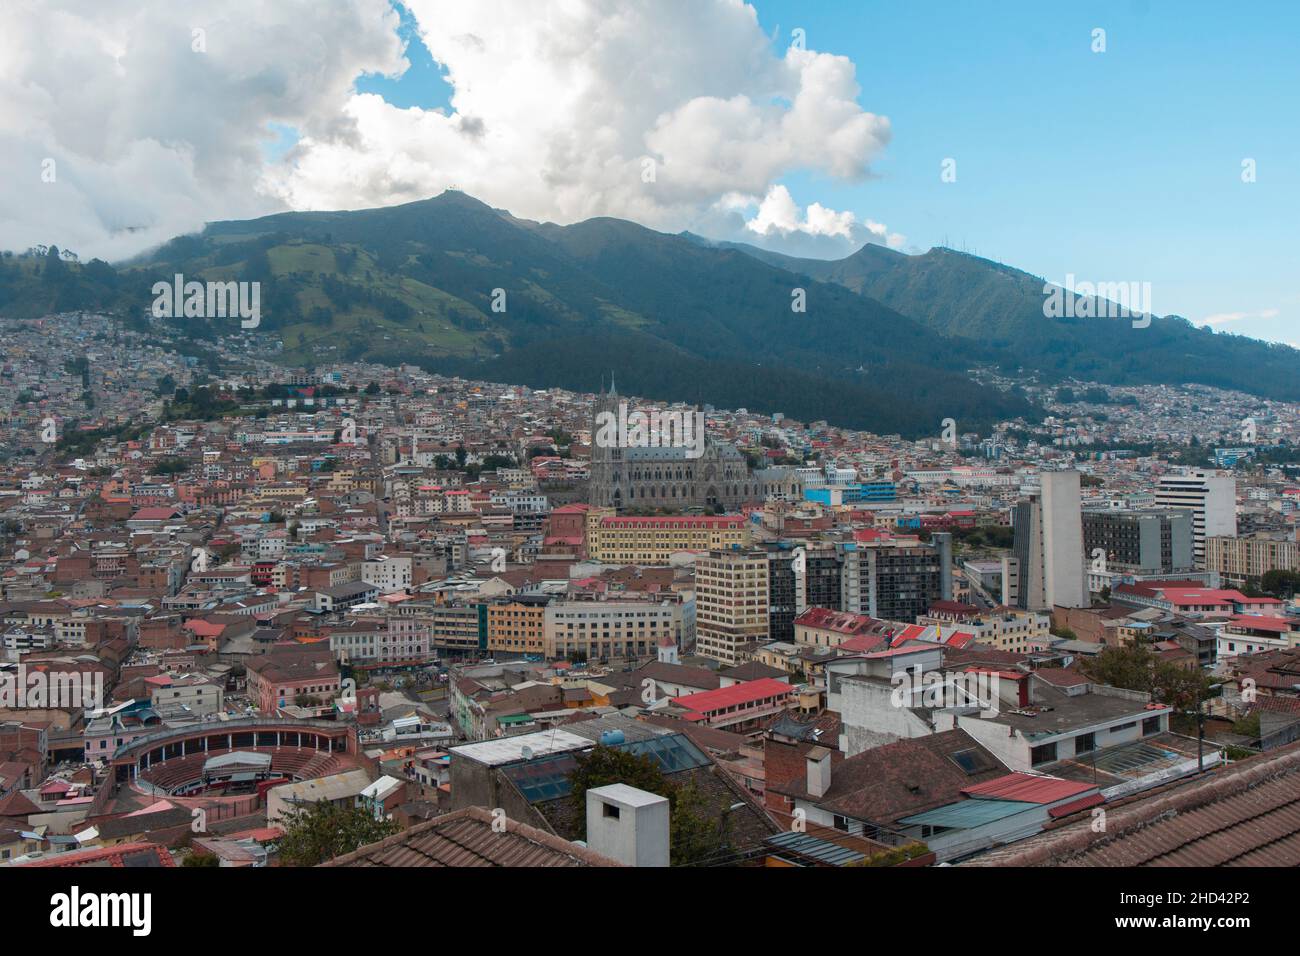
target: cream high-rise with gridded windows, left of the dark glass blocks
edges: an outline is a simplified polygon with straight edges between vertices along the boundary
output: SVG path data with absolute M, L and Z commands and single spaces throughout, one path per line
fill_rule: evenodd
M 696 562 L 696 650 L 740 663 L 737 648 L 768 637 L 763 551 L 710 551 Z

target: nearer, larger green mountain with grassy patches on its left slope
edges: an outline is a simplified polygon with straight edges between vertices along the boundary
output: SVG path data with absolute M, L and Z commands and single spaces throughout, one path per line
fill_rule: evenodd
M 996 351 L 958 347 L 838 284 L 620 220 L 525 222 L 459 193 L 214 222 L 117 271 L 95 264 L 107 269 L 95 282 L 91 268 L 0 263 L 0 312 L 46 308 L 60 289 L 62 308 L 139 312 L 153 282 L 181 273 L 260 282 L 256 334 L 280 334 L 292 364 L 413 362 L 585 390 L 614 371 L 650 398 L 907 436 L 937 434 L 945 418 L 983 429 L 1037 414 L 966 376 Z M 796 294 L 806 311 L 792 310 Z M 237 325 L 176 321 L 196 337 Z

